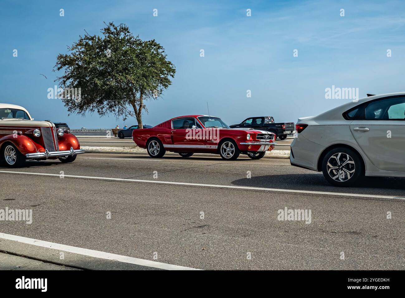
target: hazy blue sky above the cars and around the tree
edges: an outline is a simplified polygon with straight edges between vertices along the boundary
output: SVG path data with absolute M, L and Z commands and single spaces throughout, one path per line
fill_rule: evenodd
M 207 101 L 210 113 L 228 124 L 249 116 L 296 122 L 348 101 L 325 99 L 332 85 L 359 88 L 360 98 L 405 91 L 404 11 L 403 1 L 2 0 L 0 102 L 71 128 L 122 127 L 114 117 L 68 117 L 60 100 L 47 98 L 58 75 L 56 56 L 84 30 L 98 34 L 103 21 L 114 21 L 141 39 L 156 39 L 177 69 L 163 98 L 147 103 L 144 124 L 207 114 Z

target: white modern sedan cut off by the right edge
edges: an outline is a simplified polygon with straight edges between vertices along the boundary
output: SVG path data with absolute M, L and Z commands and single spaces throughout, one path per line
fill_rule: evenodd
M 363 176 L 405 177 L 405 92 L 373 95 L 300 118 L 292 165 L 350 186 Z

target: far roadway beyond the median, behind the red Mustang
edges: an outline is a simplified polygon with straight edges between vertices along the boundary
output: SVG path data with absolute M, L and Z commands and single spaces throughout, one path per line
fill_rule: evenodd
M 102 136 L 80 136 L 77 135 L 81 146 L 95 146 L 95 147 L 124 147 L 124 148 L 131 148 L 134 147 L 136 144 L 132 141 L 131 138 L 119 139 L 118 137 L 102 137 Z M 277 139 L 275 146 L 276 150 L 290 150 L 290 145 L 292 143 L 293 138 L 289 137 L 285 140 Z

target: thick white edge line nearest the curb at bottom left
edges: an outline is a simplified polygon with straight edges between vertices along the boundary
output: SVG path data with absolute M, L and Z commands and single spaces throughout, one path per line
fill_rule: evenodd
M 49 249 L 56 249 L 58 251 L 68 251 L 70 253 L 77 253 L 79 255 L 87 255 L 89 257 L 97 257 L 99 259 L 116 260 L 123 263 L 136 264 L 141 266 L 160 268 L 165 270 L 200 270 L 196 268 L 183 267 L 178 265 L 154 262 L 144 259 L 138 259 L 136 257 L 127 257 L 125 255 L 116 255 L 115 253 L 105 253 L 104 251 L 94 251 L 92 249 L 83 249 L 81 247 L 74 247 L 70 245 L 58 244 L 48 241 L 42 241 L 32 238 L 26 238 L 21 236 L 15 236 L 10 234 L 0 233 L 0 238 L 18 241 L 26 244 L 32 244 L 40 247 L 46 247 Z

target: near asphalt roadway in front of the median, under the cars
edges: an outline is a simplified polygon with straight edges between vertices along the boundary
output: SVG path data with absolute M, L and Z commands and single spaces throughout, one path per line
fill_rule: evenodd
M 289 160 L 215 156 L 83 154 L 0 170 L 55 175 L 0 172 L 0 209 L 33 210 L 30 225 L 0 221 L 6 234 L 199 269 L 405 268 L 404 179 L 341 189 Z M 277 220 L 285 207 L 311 210 L 311 223 Z

